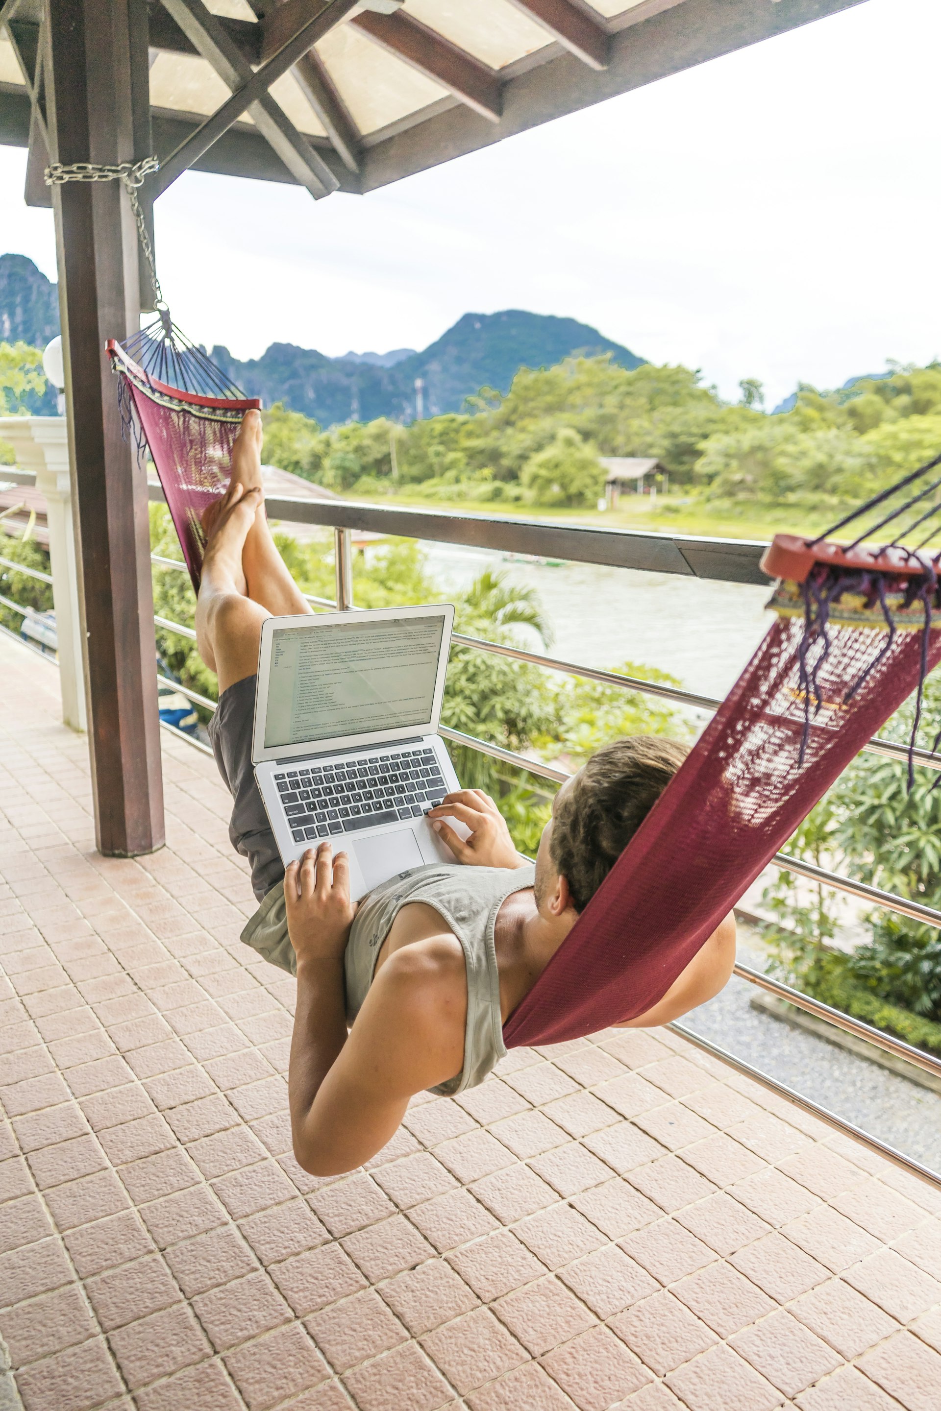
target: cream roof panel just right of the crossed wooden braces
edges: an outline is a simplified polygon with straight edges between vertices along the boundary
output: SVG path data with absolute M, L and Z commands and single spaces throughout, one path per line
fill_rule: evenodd
M 364 135 L 449 97 L 440 83 L 396 59 L 351 24 L 339 24 L 324 35 L 317 54 Z

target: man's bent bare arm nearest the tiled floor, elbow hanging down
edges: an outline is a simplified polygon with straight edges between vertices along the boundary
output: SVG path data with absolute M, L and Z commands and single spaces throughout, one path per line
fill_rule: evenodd
M 288 1101 L 293 1153 L 313 1175 L 368 1161 L 395 1134 L 409 1098 L 460 1072 L 467 978 L 453 937 L 394 952 L 347 1037 L 343 952 L 356 914 L 346 854 L 309 851 L 285 875 L 298 954 Z M 450 944 L 449 944 L 450 941 Z

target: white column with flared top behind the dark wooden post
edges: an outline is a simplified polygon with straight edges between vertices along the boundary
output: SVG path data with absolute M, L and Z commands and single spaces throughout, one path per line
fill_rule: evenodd
M 52 567 L 52 605 L 59 658 L 62 720 L 72 729 L 87 729 L 82 618 L 72 523 L 69 443 L 63 416 L 3 418 L 0 437 L 8 442 L 23 470 L 35 474 L 45 497 Z

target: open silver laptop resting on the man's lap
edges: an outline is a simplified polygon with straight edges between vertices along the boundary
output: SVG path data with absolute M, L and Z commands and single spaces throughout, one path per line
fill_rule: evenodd
M 450 602 L 265 619 L 251 759 L 285 866 L 327 838 L 358 897 L 454 861 L 425 817 L 460 789 L 437 734 L 453 622 Z

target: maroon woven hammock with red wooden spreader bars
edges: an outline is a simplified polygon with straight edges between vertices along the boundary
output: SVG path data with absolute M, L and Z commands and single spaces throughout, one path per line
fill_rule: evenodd
M 258 402 L 157 325 L 109 353 L 198 588 L 202 514 L 224 492 L 238 423 Z M 830 531 L 859 521 L 875 535 L 901 521 L 889 545 L 863 546 L 862 533 L 848 547 L 775 539 L 763 560 L 779 580 L 775 622 L 506 1020 L 508 1047 L 581 1038 L 652 1009 L 854 756 L 920 691 L 941 658 L 941 555 L 900 547 L 899 538 L 941 516 L 941 481 L 927 481 L 938 463 Z

